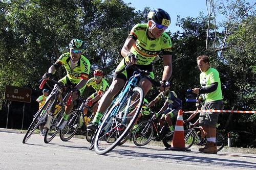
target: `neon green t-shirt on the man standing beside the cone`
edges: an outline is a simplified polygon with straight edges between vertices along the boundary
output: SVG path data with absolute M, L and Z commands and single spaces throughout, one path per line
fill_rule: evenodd
M 209 68 L 205 72 L 201 72 L 200 74 L 200 84 L 202 87 L 207 87 L 211 83 L 218 82 L 218 87 L 215 91 L 212 91 L 210 93 L 205 93 L 204 98 L 205 102 L 212 102 L 212 101 L 218 101 L 222 100 L 222 91 L 221 91 L 221 79 L 219 72 L 215 68 Z

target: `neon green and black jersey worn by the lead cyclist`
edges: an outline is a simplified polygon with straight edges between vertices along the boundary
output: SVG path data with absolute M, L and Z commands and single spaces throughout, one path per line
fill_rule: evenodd
M 157 39 L 147 35 L 147 23 L 138 23 L 131 30 L 129 37 L 136 40 L 130 52 L 136 55 L 137 64 L 148 65 L 162 52 L 163 55 L 172 55 L 172 41 L 164 32 Z

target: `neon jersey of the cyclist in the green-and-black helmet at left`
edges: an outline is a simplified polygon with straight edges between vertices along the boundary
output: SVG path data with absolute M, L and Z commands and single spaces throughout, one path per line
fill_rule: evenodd
M 70 53 L 62 54 L 55 64 L 61 64 L 67 71 L 67 77 L 71 83 L 78 84 L 81 79 L 88 79 L 90 73 L 90 61 L 81 55 L 80 60 L 75 65 L 73 70 L 71 69 Z

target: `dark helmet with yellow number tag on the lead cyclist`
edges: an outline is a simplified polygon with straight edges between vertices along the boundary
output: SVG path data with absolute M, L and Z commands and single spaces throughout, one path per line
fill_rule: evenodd
M 147 14 L 147 20 L 153 20 L 154 22 L 167 27 L 170 25 L 169 14 L 160 8 L 150 11 Z

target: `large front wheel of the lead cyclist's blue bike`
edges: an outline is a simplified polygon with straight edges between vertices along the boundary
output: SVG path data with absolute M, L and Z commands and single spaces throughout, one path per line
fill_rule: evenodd
M 94 142 L 94 149 L 97 154 L 110 152 L 129 133 L 140 113 L 143 100 L 143 90 L 140 87 L 135 87 L 127 91 L 122 101 L 115 102 L 111 109 L 106 112 Z M 133 110 L 131 108 L 136 108 L 134 116 L 127 116 Z M 131 120 L 129 121 L 129 119 Z M 109 140 L 113 140 L 113 135 L 115 135 L 115 141 L 112 143 Z

